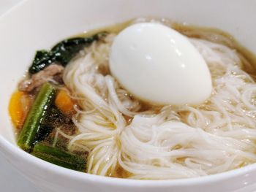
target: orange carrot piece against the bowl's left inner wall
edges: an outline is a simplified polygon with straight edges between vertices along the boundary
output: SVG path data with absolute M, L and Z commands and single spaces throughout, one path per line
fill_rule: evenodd
M 9 103 L 9 114 L 16 128 L 22 128 L 27 112 L 31 105 L 31 98 L 22 91 L 12 93 Z

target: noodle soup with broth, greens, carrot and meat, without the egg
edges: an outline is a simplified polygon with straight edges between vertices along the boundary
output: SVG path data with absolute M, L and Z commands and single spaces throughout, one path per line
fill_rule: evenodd
M 113 40 L 140 22 L 162 23 L 189 38 L 211 72 L 214 90 L 206 102 L 151 104 L 112 77 Z M 255 64 L 255 55 L 230 34 L 166 19 L 140 18 L 76 35 L 38 51 L 13 93 L 18 145 L 69 169 L 142 180 L 200 177 L 253 164 Z

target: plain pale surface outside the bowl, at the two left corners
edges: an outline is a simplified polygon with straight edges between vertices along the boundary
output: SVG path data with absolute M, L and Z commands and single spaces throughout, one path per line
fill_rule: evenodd
M 0 0 L 0 15 L 21 0 Z M 39 192 L 37 188 L 14 169 L 0 153 L 1 192 Z

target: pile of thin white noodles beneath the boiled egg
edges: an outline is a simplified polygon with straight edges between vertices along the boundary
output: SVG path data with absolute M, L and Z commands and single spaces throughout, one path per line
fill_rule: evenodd
M 197 107 L 144 107 L 108 69 L 116 34 L 94 42 L 65 69 L 82 110 L 69 150 L 89 152 L 87 172 L 167 180 L 199 177 L 256 162 L 256 84 L 244 58 L 225 45 L 189 38 L 211 71 L 213 93 Z M 196 86 L 196 85 L 195 85 Z

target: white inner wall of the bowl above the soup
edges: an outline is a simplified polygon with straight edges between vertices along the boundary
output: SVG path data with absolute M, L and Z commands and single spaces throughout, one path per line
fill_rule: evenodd
M 1 137 L 15 145 L 8 102 L 36 50 L 83 31 L 146 16 L 220 28 L 256 53 L 254 0 L 25 1 L 0 19 Z

